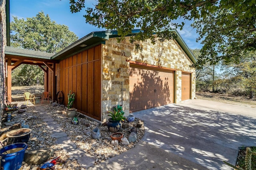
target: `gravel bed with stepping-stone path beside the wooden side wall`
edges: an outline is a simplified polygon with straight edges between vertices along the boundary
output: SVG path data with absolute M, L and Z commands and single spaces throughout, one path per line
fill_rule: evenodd
M 48 126 L 42 115 L 40 115 L 42 112 L 44 113 L 44 117 L 46 117 L 46 115 L 50 116 L 53 121 L 60 125 L 60 129 L 67 134 L 70 141 L 76 144 L 76 149 L 83 150 L 84 154 L 94 156 L 94 165 L 100 164 L 100 162 L 104 162 L 107 159 L 135 147 L 144 135 L 144 126 L 142 126 L 137 128 L 138 138 L 135 143 L 129 143 L 129 145 L 122 145 L 122 143 L 118 143 L 118 145 L 114 145 L 110 138 L 112 132 L 108 131 L 107 126 L 100 125 L 100 123 L 92 121 L 84 116 L 79 117 L 79 123 L 77 125 L 73 125 L 71 123 L 72 118 L 66 117 L 66 114 L 63 112 L 65 109 L 65 107 L 47 104 L 42 106 L 38 105 L 36 107 L 30 106 L 26 108 L 24 113 L 14 111 L 12 113 L 12 124 L 6 125 L 3 123 L 1 131 L 6 131 L 13 124 L 20 123 L 22 120 L 25 120 L 26 125 L 29 125 L 29 128 L 32 129 L 30 140 L 28 141 L 28 149 L 26 151 L 39 148 L 54 149 L 52 158 L 60 156 L 60 160 L 66 161 L 65 163 L 56 164 L 56 170 L 83 170 L 85 168 L 80 167 L 78 160 L 76 158 L 72 158 L 70 154 L 63 149 L 64 144 L 56 144 L 58 138 L 51 137 L 53 131 Z M 135 118 L 135 121 L 131 123 L 125 121 L 123 124 L 125 124 L 127 128 L 121 129 L 121 133 L 123 133 L 124 137 L 128 139 L 131 127 L 136 127 L 138 123 L 143 124 L 143 122 L 137 118 Z M 100 139 L 92 139 L 91 131 L 96 127 L 100 129 Z M 22 167 L 20 169 L 35 170 L 40 166 L 42 166 L 42 164 L 32 165 L 22 162 Z

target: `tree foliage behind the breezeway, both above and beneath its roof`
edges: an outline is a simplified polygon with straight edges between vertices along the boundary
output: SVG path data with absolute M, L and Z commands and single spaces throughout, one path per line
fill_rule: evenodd
M 26 20 L 14 17 L 10 23 L 10 40 L 12 47 L 57 53 L 78 40 L 78 37 L 69 31 L 66 25 L 51 21 L 44 12 L 39 12 L 36 17 Z M 13 86 L 36 85 L 36 79 L 40 85 L 44 84 L 44 72 L 36 65 L 21 64 L 12 71 Z

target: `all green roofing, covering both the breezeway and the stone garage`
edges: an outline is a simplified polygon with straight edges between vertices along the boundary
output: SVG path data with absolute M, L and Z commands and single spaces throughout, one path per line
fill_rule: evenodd
M 132 34 L 139 33 L 140 29 L 133 29 Z M 180 47 L 185 51 L 185 53 L 188 55 L 190 60 L 195 64 L 196 58 L 194 57 L 193 53 L 190 51 L 180 34 L 176 29 L 172 29 L 171 31 L 174 31 L 174 33 L 177 35 L 175 38 Z M 132 36 L 132 35 L 129 35 Z M 96 46 L 98 44 L 105 43 L 106 40 L 114 37 L 119 37 L 117 34 L 117 31 L 96 31 L 89 33 L 88 35 L 82 37 L 78 41 L 72 43 L 62 51 L 53 54 L 53 53 L 45 53 L 41 51 L 33 51 L 28 49 L 19 49 L 15 47 L 9 47 L 6 46 L 5 54 L 6 55 L 16 55 L 16 56 L 22 56 L 22 57 L 30 57 L 30 58 L 38 58 L 38 59 L 51 59 L 55 61 L 60 61 L 63 59 L 66 59 L 72 55 L 75 55 L 77 53 L 80 53 L 86 49 L 89 49 L 93 46 Z

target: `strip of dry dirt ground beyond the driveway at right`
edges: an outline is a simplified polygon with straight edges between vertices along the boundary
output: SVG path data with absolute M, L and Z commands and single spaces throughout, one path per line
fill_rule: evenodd
M 218 94 L 211 92 L 196 92 L 196 97 L 202 100 L 256 107 L 256 100 L 251 100 L 249 97 L 245 96 L 234 96 L 230 94 Z

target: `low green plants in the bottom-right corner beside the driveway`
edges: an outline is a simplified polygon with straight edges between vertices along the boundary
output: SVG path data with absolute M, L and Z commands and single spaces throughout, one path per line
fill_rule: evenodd
M 228 166 L 234 168 L 234 170 L 252 170 L 252 156 L 256 156 L 256 149 L 254 148 L 252 150 L 250 147 L 246 147 L 246 154 L 242 164 L 238 164 L 238 166 L 234 166 L 226 161 L 223 161 L 223 162 Z M 242 167 L 245 167 L 245 169 Z

